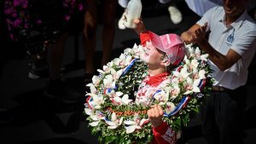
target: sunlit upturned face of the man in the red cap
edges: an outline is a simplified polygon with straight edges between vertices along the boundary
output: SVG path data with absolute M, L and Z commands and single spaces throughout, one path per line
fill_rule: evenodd
M 164 54 L 155 48 L 151 41 L 148 41 L 145 44 L 145 53 L 141 56 L 141 58 L 148 65 L 160 66 L 160 62 L 163 60 L 163 56 Z

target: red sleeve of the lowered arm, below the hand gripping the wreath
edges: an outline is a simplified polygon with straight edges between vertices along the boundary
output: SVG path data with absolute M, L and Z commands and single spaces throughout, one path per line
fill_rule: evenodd
M 177 134 L 166 122 L 160 126 L 153 128 L 153 141 L 151 144 L 175 144 L 177 142 Z

